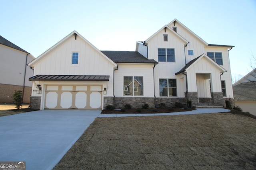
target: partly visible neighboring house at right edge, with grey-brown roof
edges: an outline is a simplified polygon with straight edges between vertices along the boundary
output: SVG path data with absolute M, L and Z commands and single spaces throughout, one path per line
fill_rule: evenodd
M 256 69 L 233 84 L 235 105 L 256 115 Z

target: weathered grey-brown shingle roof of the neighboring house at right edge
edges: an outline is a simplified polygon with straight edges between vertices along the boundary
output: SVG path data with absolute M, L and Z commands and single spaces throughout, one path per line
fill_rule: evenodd
M 256 101 L 256 81 L 238 84 L 233 92 L 235 101 Z

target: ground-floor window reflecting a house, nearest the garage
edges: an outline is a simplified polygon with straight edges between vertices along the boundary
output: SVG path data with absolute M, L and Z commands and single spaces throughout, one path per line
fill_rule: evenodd
M 143 96 L 143 76 L 124 76 L 124 96 Z

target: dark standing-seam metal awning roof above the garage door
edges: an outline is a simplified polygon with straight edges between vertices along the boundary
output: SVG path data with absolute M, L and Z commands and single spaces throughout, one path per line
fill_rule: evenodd
M 108 81 L 109 76 L 86 76 L 86 75 L 36 75 L 29 78 L 34 80 L 63 80 L 63 81 Z

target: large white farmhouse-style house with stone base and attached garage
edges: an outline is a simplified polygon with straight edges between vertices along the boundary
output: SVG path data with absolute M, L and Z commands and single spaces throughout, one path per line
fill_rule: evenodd
M 29 66 L 31 107 L 38 109 L 156 107 L 188 101 L 221 107 L 233 99 L 228 51 L 173 20 L 136 51 L 99 51 L 73 31 Z

